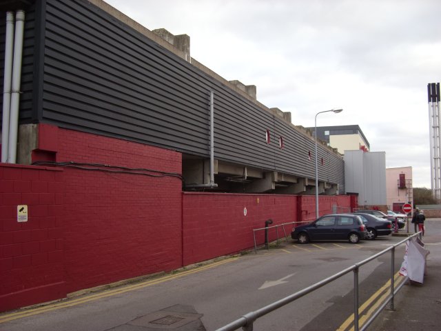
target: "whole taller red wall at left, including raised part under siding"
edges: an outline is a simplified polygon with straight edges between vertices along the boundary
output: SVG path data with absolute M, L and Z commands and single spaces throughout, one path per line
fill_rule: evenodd
M 178 152 L 48 125 L 32 157 L 181 173 Z M 0 164 L 0 311 L 180 268 L 181 188 L 176 177 Z

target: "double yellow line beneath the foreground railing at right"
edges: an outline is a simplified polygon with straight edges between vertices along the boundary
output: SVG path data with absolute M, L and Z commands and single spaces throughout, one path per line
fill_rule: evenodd
M 404 277 L 401 278 L 400 281 L 398 281 L 398 277 L 400 277 L 400 274 L 397 272 L 393 279 L 394 279 L 394 287 L 397 288 L 403 281 Z M 358 308 L 358 326 L 361 328 L 363 324 L 366 323 L 366 321 L 376 312 L 378 307 L 386 301 L 387 297 L 390 294 L 389 289 L 391 288 L 391 280 L 387 281 L 384 285 L 382 285 L 382 288 L 380 288 L 377 292 L 375 292 L 372 297 L 370 297 L 365 303 L 363 303 L 360 308 Z M 376 301 L 376 303 L 373 303 L 373 301 Z M 367 308 L 370 306 L 369 310 Z M 365 310 L 367 310 L 365 312 Z M 363 313 L 364 312 L 364 313 Z M 349 326 L 352 327 L 349 329 Z M 337 331 L 351 331 L 353 330 L 353 314 L 347 318 L 347 320 L 340 325 L 340 328 L 337 329 Z

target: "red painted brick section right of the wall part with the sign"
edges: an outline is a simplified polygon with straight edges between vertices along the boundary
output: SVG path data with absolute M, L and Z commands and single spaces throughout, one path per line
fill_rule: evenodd
M 57 162 L 181 173 L 181 154 L 172 150 L 72 130 L 57 134 Z M 65 168 L 64 177 L 68 292 L 181 267 L 180 179 L 76 168 Z

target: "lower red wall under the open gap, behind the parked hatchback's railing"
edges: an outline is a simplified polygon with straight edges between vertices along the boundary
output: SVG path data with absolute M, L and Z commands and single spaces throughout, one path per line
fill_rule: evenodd
M 183 264 L 240 252 L 254 246 L 253 229 L 296 220 L 297 197 L 264 194 L 183 194 Z M 244 210 L 246 208 L 246 215 Z M 287 235 L 292 226 L 285 226 Z M 283 230 L 280 228 L 280 237 Z M 256 232 L 258 244 L 264 231 Z M 269 230 L 269 240 L 276 230 Z

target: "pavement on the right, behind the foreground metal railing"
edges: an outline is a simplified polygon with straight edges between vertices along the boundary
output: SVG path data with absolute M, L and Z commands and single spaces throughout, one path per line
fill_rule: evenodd
M 430 331 L 441 330 L 441 235 L 431 234 L 432 222 L 425 223 L 426 233 L 422 237 L 427 257 L 423 283 L 407 283 L 396 294 L 394 310 L 384 309 L 368 330 L 376 331 Z

